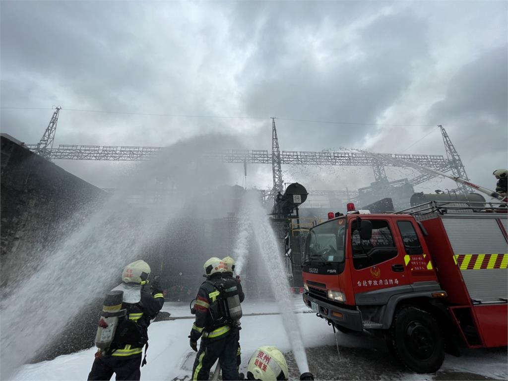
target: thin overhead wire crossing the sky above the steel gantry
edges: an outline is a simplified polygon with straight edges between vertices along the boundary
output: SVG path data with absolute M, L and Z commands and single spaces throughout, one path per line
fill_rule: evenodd
M 41 107 L 0 107 L 1 109 L 10 110 L 52 110 L 52 108 Z M 158 114 L 148 112 L 129 112 L 129 111 L 106 111 L 106 110 L 84 110 L 84 109 L 64 109 L 65 111 L 74 112 L 95 112 L 102 114 L 122 114 L 122 115 L 143 115 L 143 116 L 167 116 L 180 118 L 209 118 L 209 119 L 270 119 L 267 116 L 222 116 L 222 115 L 188 115 L 188 114 Z M 279 120 L 307 122 L 307 123 L 324 123 L 324 124 L 344 124 L 344 125 L 372 125 L 385 127 L 428 127 L 434 124 L 383 124 L 383 123 L 361 123 L 361 122 L 344 122 L 335 120 L 315 120 L 315 119 L 295 119 L 295 118 L 275 118 Z

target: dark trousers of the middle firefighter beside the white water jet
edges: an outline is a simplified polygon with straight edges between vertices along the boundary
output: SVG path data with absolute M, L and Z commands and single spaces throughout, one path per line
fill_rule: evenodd
M 193 367 L 193 380 L 207 380 L 210 369 L 217 359 L 220 361 L 222 379 L 238 379 L 236 353 L 238 330 L 231 330 L 224 336 L 214 339 L 201 338 L 201 345 Z

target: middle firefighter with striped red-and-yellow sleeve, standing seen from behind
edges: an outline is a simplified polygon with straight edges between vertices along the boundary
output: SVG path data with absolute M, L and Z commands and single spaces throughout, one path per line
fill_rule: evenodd
M 210 258 L 203 267 L 207 280 L 201 284 L 196 297 L 196 321 L 189 335 L 190 347 L 198 352 L 192 379 L 207 380 L 210 368 L 218 359 L 223 379 L 237 380 L 238 323 L 226 310 L 224 300 L 229 290 L 237 292 L 237 282 L 223 277 L 226 265 L 219 258 Z

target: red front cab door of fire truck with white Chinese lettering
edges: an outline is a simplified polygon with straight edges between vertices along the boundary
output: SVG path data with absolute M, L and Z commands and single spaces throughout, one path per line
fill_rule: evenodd
M 397 247 L 396 228 L 390 219 L 365 218 L 372 223 L 372 236 L 361 240 L 356 219 L 351 221 L 349 242 L 353 266 L 351 267 L 353 288 L 357 304 L 384 304 L 390 292 L 380 290 L 398 287 L 397 293 L 411 291 L 408 274 L 404 266 L 404 250 Z M 377 291 L 376 293 L 372 293 Z M 367 293 L 367 294 L 365 294 Z M 384 294 L 384 296 L 382 295 Z

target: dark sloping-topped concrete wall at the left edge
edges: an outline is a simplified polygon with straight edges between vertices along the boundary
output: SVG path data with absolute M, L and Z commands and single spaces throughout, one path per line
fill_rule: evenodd
M 84 204 L 104 199 L 96 186 L 37 155 L 7 134 L 0 136 L 2 292 L 35 271 L 62 220 Z M 26 268 L 27 264 L 31 268 Z

